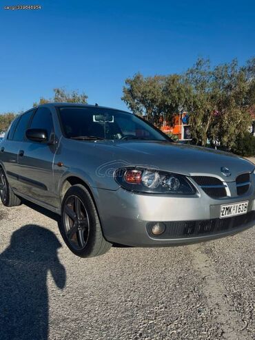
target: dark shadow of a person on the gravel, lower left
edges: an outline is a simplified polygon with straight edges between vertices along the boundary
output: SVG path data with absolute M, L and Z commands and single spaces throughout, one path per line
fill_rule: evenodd
M 51 273 L 65 287 L 65 268 L 57 255 L 61 244 L 41 226 L 14 231 L 0 254 L 0 339 L 48 339 L 48 287 Z

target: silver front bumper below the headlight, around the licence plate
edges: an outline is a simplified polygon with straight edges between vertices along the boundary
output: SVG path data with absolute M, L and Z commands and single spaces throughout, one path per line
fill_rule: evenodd
M 99 216 L 106 240 L 128 246 L 176 246 L 234 235 L 255 224 L 252 188 L 242 197 L 213 199 L 205 193 L 167 196 L 137 194 L 119 188 L 98 189 Z M 221 204 L 249 201 L 248 213 L 219 219 Z M 165 233 L 152 235 L 156 222 Z

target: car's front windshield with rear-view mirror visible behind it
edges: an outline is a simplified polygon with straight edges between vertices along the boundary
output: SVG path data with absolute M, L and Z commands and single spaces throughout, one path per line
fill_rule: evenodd
M 134 114 L 96 107 L 61 107 L 59 113 L 67 138 L 167 140 L 167 136 Z

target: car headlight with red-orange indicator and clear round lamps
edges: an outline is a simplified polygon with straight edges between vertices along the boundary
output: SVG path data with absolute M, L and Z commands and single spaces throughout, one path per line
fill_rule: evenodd
M 127 167 L 116 170 L 114 178 L 124 189 L 141 193 L 191 195 L 196 192 L 192 183 L 177 173 Z

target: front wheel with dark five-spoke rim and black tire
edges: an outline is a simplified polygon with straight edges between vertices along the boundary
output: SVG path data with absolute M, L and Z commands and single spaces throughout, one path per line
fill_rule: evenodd
M 81 184 L 65 193 L 59 230 L 70 251 L 79 257 L 103 255 L 112 246 L 103 236 L 92 197 Z

